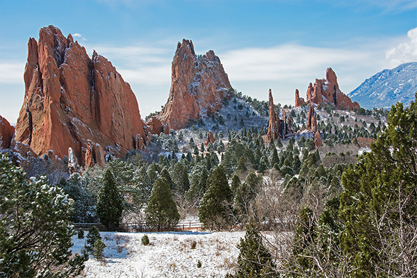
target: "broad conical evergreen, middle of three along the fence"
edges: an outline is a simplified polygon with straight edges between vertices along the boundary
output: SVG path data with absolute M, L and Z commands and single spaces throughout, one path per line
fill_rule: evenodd
M 156 179 L 145 208 L 145 215 L 147 224 L 157 231 L 172 229 L 178 223 L 177 205 L 172 199 L 170 186 L 165 178 Z

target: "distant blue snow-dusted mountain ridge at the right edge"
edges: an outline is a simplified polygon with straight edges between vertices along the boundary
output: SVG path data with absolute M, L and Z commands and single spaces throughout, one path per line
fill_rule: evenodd
M 347 94 L 361 107 L 390 108 L 398 101 L 409 106 L 417 91 L 417 62 L 404 63 L 393 70 L 383 70 L 366 79 Z

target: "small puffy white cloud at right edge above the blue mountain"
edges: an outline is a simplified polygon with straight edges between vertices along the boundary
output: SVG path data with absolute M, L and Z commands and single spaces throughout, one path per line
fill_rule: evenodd
M 391 67 L 417 61 L 417 27 L 409 30 L 407 37 L 407 42 L 402 42 L 385 52 L 385 57 L 389 60 Z

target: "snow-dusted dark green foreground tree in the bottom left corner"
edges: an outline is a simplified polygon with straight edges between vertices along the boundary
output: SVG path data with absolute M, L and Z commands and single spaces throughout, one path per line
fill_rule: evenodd
M 72 257 L 72 201 L 46 177 L 26 180 L 0 154 L 0 276 L 79 275 L 88 256 Z

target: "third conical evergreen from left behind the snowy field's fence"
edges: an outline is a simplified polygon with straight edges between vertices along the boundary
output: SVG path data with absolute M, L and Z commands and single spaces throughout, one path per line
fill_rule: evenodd
M 222 165 L 213 170 L 211 185 L 198 208 L 199 220 L 205 225 L 226 227 L 230 222 L 232 194 Z

